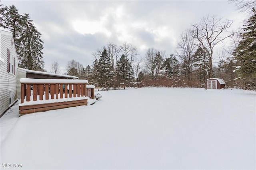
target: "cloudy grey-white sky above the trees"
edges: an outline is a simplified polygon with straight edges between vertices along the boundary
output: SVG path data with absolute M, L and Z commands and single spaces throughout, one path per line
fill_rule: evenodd
M 61 73 L 75 59 L 92 65 L 92 52 L 108 42 L 132 43 L 144 57 L 148 48 L 174 53 L 179 36 L 203 16 L 234 20 L 241 28 L 246 14 L 228 1 L 11 1 L 20 14 L 29 13 L 42 34 L 45 69 L 58 61 Z

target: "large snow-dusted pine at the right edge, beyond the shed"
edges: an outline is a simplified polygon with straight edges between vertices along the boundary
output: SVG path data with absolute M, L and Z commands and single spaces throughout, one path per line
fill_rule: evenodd
M 242 40 L 234 50 L 235 59 L 240 63 L 239 76 L 248 85 L 244 88 L 256 87 L 256 10 L 253 8 L 252 12 L 253 15 L 243 28 Z

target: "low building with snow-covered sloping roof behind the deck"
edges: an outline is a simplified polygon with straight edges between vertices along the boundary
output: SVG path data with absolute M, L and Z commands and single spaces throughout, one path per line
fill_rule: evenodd
M 76 76 L 34 71 L 18 67 L 18 99 L 20 99 L 20 79 L 78 79 Z

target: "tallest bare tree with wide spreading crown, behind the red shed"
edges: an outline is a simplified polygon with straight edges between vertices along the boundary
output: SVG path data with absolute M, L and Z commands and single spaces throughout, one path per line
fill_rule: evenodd
M 212 72 L 212 59 L 214 47 L 219 43 L 223 43 L 226 38 L 230 38 L 234 33 L 227 34 L 228 28 L 232 25 L 233 21 L 216 18 L 216 16 L 205 16 L 199 24 L 192 25 L 193 35 L 198 40 L 198 47 L 205 52 L 205 58 L 208 65 L 208 78 L 213 75 Z

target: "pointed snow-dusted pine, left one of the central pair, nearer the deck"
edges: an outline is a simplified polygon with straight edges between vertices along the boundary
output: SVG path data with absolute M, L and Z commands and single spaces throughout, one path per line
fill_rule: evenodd
M 106 48 L 103 49 L 102 54 L 100 56 L 98 62 L 98 70 L 99 70 L 99 77 L 98 83 L 101 87 L 105 87 L 108 90 L 110 82 L 112 81 L 114 71 L 111 65 L 110 57 L 106 51 Z

